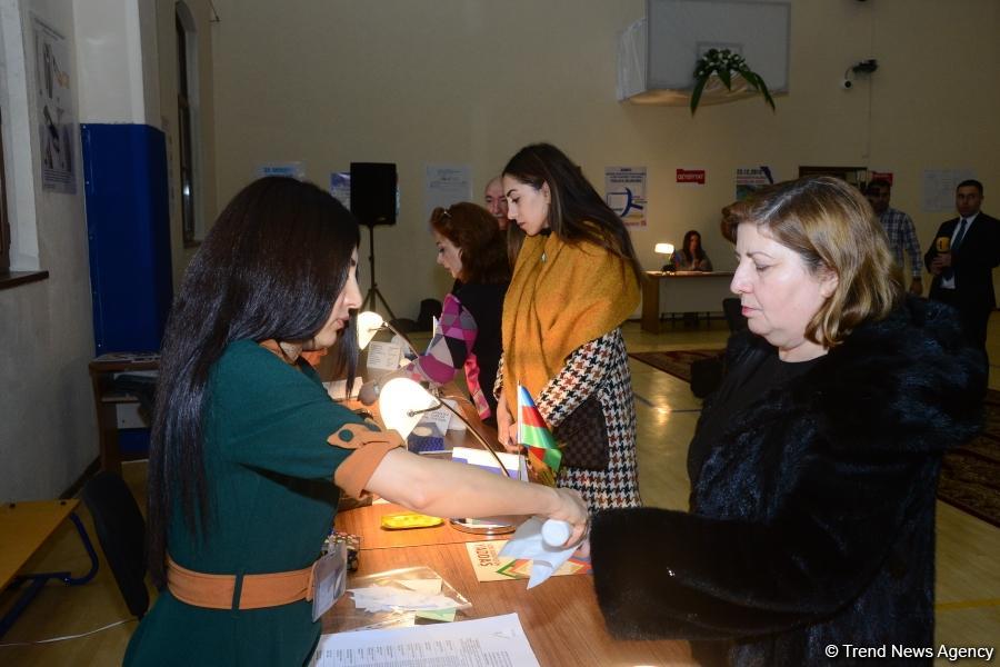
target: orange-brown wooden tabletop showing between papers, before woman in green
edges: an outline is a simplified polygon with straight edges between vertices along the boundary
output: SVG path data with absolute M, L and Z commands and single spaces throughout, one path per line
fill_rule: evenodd
M 414 530 L 380 528 L 379 519 L 383 514 L 401 510 L 396 505 L 373 505 L 337 517 L 339 529 L 361 536 L 360 567 L 354 576 L 421 565 L 430 567 L 472 604 L 456 620 L 516 611 L 543 667 L 692 663 L 686 641 L 612 639 L 604 629 L 590 576 L 551 577 L 531 590 L 527 589 L 528 581 L 524 579 L 479 581 L 469 563 L 466 542 L 492 538 L 460 532 L 447 522 L 444 526 Z M 323 616 L 323 633 L 351 629 L 358 626 L 356 620 L 353 601 L 346 595 Z

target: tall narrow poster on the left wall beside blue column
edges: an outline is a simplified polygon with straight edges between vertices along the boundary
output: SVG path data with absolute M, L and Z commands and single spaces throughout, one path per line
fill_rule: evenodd
M 33 14 L 31 20 L 42 190 L 73 195 L 77 191 L 73 165 L 77 118 L 69 46 L 58 30 Z

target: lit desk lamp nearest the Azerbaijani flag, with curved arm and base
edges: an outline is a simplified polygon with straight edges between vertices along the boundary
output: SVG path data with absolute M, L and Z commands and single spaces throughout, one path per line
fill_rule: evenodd
M 430 412 L 439 408 L 447 408 L 452 415 L 458 417 L 466 428 L 476 437 L 483 449 L 490 452 L 493 460 L 500 466 L 500 471 L 510 477 L 510 471 L 497 451 L 490 446 L 476 428 L 469 424 L 464 415 L 456 410 L 448 402 L 438 399 L 430 391 L 424 389 L 419 382 L 409 378 L 392 378 L 382 387 L 379 394 L 379 412 L 382 416 L 382 424 L 387 429 L 394 429 L 406 440 L 417 422 L 424 412 Z M 456 530 L 463 532 L 474 532 L 479 535 L 502 535 L 504 532 L 513 532 L 517 528 L 509 524 L 480 522 L 470 521 L 469 519 L 451 519 L 451 526 Z

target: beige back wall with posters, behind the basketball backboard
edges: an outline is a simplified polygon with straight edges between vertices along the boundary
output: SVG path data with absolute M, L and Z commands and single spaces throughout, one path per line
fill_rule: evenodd
M 302 160 L 320 185 L 350 161 L 399 165 L 398 227 L 376 232 L 378 279 L 397 315 L 450 281 L 434 265 L 423 219 L 423 166 L 463 162 L 473 197 L 521 146 L 547 140 L 600 191 L 603 168 L 649 169 L 650 225 L 632 238 L 647 267 L 656 241 L 704 232 L 717 266 L 732 266 L 717 232 L 738 167 L 868 165 L 896 175 L 893 205 L 927 246 L 944 211 L 921 211 L 924 169 L 969 167 L 1000 200 L 1000 3 L 996 0 L 796 0 L 788 96 L 686 108 L 614 99 L 618 33 L 642 0 L 216 0 L 219 205 L 266 161 Z M 881 64 L 846 92 L 844 70 Z M 752 64 L 752 63 L 751 63 Z M 708 170 L 680 188 L 678 167 Z M 987 206 L 989 210 L 989 206 Z M 993 207 L 993 212 L 1000 207 Z M 362 240 L 367 245 L 367 239 Z M 362 246 L 362 275 L 367 273 Z M 363 287 L 363 286 L 362 286 Z

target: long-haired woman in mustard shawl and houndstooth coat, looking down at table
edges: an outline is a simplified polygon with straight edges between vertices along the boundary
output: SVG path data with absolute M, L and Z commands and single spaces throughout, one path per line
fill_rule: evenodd
M 554 146 L 522 148 L 503 169 L 508 217 L 523 236 L 503 301 L 500 441 L 516 451 L 517 387 L 563 447 L 557 484 L 591 510 L 639 506 L 636 407 L 621 322 L 642 276 L 621 219 Z

